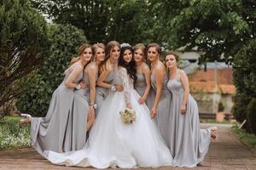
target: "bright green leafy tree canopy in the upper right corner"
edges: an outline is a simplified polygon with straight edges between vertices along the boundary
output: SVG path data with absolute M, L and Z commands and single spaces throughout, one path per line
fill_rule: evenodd
M 232 61 L 241 46 L 256 36 L 253 0 L 173 0 L 155 3 L 161 14 L 158 42 L 166 48 L 197 47 L 201 62 Z

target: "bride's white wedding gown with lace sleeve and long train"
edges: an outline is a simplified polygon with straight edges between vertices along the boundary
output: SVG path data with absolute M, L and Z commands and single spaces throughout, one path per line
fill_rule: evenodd
M 59 165 L 97 168 L 172 165 L 171 153 L 151 120 L 148 107 L 139 105 L 140 96 L 133 89 L 125 68 L 120 68 L 117 75 L 118 84 L 123 85 L 124 91 L 112 93 L 105 99 L 84 150 L 67 153 L 48 150 L 44 153 L 49 161 Z M 129 125 L 124 124 L 119 115 L 126 102 L 130 102 L 137 113 L 136 122 Z

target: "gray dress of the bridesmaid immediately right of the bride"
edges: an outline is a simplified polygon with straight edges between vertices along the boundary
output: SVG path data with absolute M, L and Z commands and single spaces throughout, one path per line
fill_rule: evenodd
M 136 74 L 137 75 L 137 81 L 134 83 L 134 88 L 136 89 L 137 93 L 140 96 L 143 96 L 145 93 L 145 90 L 147 88 L 147 82 L 144 74 Z M 145 101 L 146 105 L 148 106 L 149 110 L 152 108 L 154 105 L 154 93 L 152 89 L 150 88 L 148 97 Z

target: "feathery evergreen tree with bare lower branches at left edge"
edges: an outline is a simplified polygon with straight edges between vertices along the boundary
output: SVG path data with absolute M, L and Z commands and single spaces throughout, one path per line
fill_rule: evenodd
M 38 68 L 48 47 L 44 17 L 27 0 L 0 0 L 0 106 L 22 93 L 17 81 Z

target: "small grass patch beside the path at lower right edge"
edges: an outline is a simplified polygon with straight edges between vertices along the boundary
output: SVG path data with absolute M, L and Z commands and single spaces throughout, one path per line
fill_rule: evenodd
M 256 135 L 247 133 L 244 129 L 239 129 L 238 125 L 232 127 L 238 137 L 246 143 L 256 153 Z

